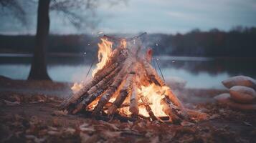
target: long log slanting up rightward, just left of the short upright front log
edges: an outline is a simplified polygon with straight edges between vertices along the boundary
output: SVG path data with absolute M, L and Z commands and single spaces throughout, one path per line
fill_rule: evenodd
M 120 90 L 118 97 L 116 97 L 115 102 L 113 102 L 112 106 L 108 109 L 108 114 L 114 114 L 116 112 L 116 109 L 118 109 L 118 107 L 123 104 L 128 94 L 131 93 L 131 89 L 133 88 L 134 74 L 134 71 L 128 74 L 128 77 L 125 80 L 125 84 Z

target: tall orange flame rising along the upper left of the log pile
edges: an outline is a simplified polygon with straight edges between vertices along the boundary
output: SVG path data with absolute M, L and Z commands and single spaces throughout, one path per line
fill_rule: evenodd
M 92 76 L 94 77 L 95 74 L 100 70 L 103 69 L 103 66 L 108 62 L 110 59 L 110 56 L 112 54 L 112 46 L 113 43 L 111 41 L 108 41 L 107 39 L 100 39 L 101 43 L 98 44 L 99 50 L 98 50 L 98 61 L 99 63 L 96 64 L 96 69 L 93 69 Z

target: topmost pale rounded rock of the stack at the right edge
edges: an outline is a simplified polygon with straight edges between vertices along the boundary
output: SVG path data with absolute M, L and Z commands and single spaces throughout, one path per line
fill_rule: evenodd
M 229 79 L 222 81 L 222 84 L 227 88 L 240 85 L 240 86 L 252 87 L 253 89 L 256 89 L 255 79 L 252 79 L 251 77 L 246 77 L 246 76 L 231 77 Z

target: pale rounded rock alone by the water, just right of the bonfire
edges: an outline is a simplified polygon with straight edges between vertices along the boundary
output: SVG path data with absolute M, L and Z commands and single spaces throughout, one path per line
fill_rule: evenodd
M 182 89 L 186 86 L 186 80 L 180 77 L 166 77 L 165 82 L 172 89 Z

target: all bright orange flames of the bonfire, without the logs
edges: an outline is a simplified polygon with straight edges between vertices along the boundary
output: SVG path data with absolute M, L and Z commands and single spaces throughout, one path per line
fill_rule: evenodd
M 96 68 L 93 69 L 92 76 L 94 77 L 95 74 L 100 70 L 103 69 L 105 64 L 107 64 L 108 60 L 111 57 L 111 54 L 113 53 L 113 42 L 108 41 L 108 39 L 100 39 L 101 42 L 98 44 L 98 64 L 96 64 Z M 125 39 L 120 40 L 120 47 L 126 48 L 127 43 Z M 82 84 L 73 84 L 72 91 L 77 92 L 82 88 Z M 147 87 L 141 86 L 137 88 L 138 94 L 141 94 L 141 96 L 146 97 L 148 99 L 149 106 L 152 109 L 153 114 L 155 114 L 157 117 L 165 117 L 167 116 L 162 111 L 162 105 L 161 105 L 161 99 L 164 97 L 164 93 L 166 90 L 168 90 L 169 87 L 166 86 L 158 86 L 156 84 L 149 84 Z M 116 99 L 116 96 L 111 97 L 109 102 L 114 102 Z M 127 97 L 125 100 L 129 100 L 130 97 Z M 139 102 L 142 102 L 141 99 Z M 90 104 L 90 107 L 93 109 L 96 106 L 97 102 L 93 102 Z M 141 114 L 144 117 L 149 117 L 148 112 L 146 111 L 146 108 L 144 106 L 138 107 L 139 114 Z M 125 107 L 121 109 L 121 112 L 130 115 L 131 112 L 129 112 L 128 107 Z

